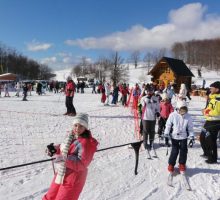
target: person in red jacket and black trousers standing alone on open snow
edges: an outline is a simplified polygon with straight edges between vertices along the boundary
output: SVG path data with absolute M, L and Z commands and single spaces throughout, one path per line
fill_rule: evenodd
M 65 87 L 65 94 L 66 94 L 66 108 L 67 112 L 64 115 L 75 116 L 76 109 L 73 105 L 73 97 L 75 92 L 75 84 L 70 76 L 67 78 L 67 83 Z

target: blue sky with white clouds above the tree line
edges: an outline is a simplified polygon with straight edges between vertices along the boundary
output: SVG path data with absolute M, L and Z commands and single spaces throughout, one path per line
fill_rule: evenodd
M 219 36 L 217 0 L 0 0 L 0 42 L 54 69 Z

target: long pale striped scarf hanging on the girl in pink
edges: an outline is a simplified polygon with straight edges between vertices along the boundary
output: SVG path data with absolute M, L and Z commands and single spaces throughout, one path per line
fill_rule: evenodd
M 72 133 L 68 134 L 68 136 L 65 138 L 64 142 L 60 145 L 61 155 L 64 158 L 63 162 L 60 162 L 58 169 L 57 169 L 57 176 L 55 179 L 55 183 L 62 184 L 63 179 L 66 173 L 66 165 L 65 160 L 67 159 L 67 154 L 69 151 L 70 144 L 74 138 L 74 135 Z

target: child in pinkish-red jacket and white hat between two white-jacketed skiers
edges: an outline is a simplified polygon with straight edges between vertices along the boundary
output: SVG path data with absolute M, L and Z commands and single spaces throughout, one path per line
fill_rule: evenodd
M 158 121 L 158 135 L 159 138 L 162 137 L 163 132 L 165 130 L 166 121 L 170 115 L 171 112 L 174 111 L 172 104 L 169 101 L 169 97 L 167 93 L 163 93 L 162 100 L 160 102 L 160 119 Z M 166 141 L 167 143 L 168 141 Z

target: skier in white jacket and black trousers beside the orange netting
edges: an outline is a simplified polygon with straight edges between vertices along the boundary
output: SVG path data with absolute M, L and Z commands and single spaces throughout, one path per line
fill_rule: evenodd
M 160 115 L 160 104 L 153 90 L 145 90 L 145 93 L 146 96 L 141 98 L 143 144 L 145 149 L 151 150 L 155 136 L 156 117 Z

